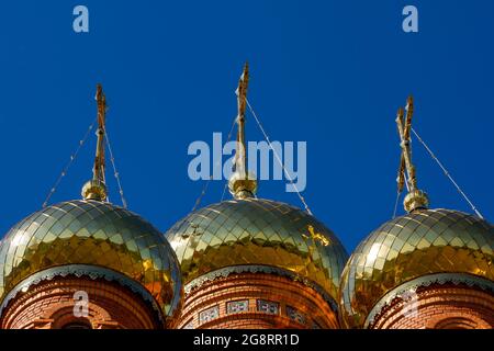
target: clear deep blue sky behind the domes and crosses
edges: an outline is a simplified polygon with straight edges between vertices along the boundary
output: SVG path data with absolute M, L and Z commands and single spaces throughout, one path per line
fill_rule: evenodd
M 88 34 L 72 31 L 77 4 Z M 402 31 L 405 4 L 419 33 Z M 246 59 L 250 102 L 272 139 L 307 141 L 303 195 L 348 251 L 392 215 L 394 118 L 408 93 L 417 132 L 494 220 L 493 18 L 489 0 L 2 2 L 0 231 L 41 208 L 96 116 L 97 82 L 130 208 L 168 229 L 203 188 L 188 178 L 187 148 L 228 132 Z M 247 137 L 262 139 L 251 117 Z M 89 141 L 53 202 L 80 197 Z M 414 160 L 434 207 L 471 212 L 418 143 Z M 279 181 L 259 196 L 301 205 Z

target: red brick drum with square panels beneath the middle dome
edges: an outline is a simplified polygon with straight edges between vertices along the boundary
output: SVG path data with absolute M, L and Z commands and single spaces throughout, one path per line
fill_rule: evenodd
M 260 299 L 277 304 L 277 313 L 258 310 Z M 248 308 L 228 312 L 227 304 L 232 302 L 247 302 Z M 179 328 L 339 328 L 336 314 L 316 291 L 274 274 L 231 274 L 206 282 L 186 295 L 183 306 Z M 290 309 L 301 316 L 299 321 L 289 316 Z M 201 320 L 200 315 L 207 310 L 215 310 L 213 318 Z

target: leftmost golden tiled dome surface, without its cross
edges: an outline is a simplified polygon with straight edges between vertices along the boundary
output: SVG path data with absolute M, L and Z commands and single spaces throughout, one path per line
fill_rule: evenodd
M 93 200 L 45 207 L 5 235 L 0 244 L 0 303 L 24 279 L 70 264 L 131 278 L 150 293 L 165 317 L 180 307 L 180 270 L 162 234 L 130 211 Z

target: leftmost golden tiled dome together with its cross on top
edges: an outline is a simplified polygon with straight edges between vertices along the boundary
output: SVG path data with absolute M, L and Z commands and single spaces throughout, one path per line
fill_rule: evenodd
M 0 241 L 0 315 L 18 293 L 31 285 L 75 275 L 120 283 L 151 305 L 160 321 L 172 322 L 180 312 L 183 292 L 177 257 L 151 224 L 109 203 L 106 100 L 101 84 L 96 100 L 98 143 L 93 177 L 82 186 L 83 200 L 49 206 L 46 201 L 41 211 L 18 223 Z M 123 191 L 120 193 L 126 206 Z

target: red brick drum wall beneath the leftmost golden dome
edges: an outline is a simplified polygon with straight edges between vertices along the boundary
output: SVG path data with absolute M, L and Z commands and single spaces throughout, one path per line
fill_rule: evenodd
M 85 291 L 89 297 L 88 317 L 74 315 L 74 294 Z M 70 322 L 89 324 L 93 329 L 161 327 L 138 295 L 117 283 L 85 278 L 58 278 L 20 293 L 3 310 L 2 329 L 58 329 Z

